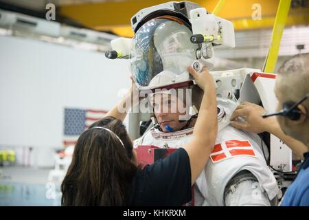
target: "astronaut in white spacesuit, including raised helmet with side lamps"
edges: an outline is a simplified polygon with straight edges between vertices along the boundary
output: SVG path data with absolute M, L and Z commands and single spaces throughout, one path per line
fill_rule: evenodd
M 112 42 L 114 51 L 106 57 L 129 57 L 139 91 L 148 91 L 148 107 L 155 126 L 135 140 L 135 147 L 179 148 L 192 139 L 202 97 L 187 67 L 197 72 L 203 66 L 213 67 L 214 45 L 235 46 L 233 25 L 188 1 L 146 8 L 137 12 L 131 23 L 135 36 L 130 52 L 125 46 L 128 39 L 120 39 Z M 235 91 L 239 91 L 243 78 L 216 80 L 217 92 L 222 91 L 217 95 L 219 131 L 205 171 L 193 186 L 191 205 L 271 206 L 279 188 L 266 165 L 262 140 L 229 125 L 231 113 L 238 105 Z M 185 111 L 180 111 L 181 105 Z

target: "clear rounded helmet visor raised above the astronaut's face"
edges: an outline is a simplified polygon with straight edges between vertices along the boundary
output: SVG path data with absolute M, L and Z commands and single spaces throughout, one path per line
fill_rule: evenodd
M 187 66 L 196 59 L 185 24 L 170 19 L 152 19 L 133 37 L 130 70 L 139 87 L 157 88 L 190 80 Z

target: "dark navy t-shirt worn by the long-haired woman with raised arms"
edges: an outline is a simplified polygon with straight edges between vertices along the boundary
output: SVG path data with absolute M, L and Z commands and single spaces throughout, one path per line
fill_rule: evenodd
M 128 206 L 182 206 L 191 200 L 191 168 L 183 148 L 138 170 Z

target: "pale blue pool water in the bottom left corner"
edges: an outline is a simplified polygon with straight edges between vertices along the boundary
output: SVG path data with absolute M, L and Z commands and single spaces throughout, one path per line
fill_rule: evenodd
M 60 206 L 60 185 L 0 182 L 0 206 Z

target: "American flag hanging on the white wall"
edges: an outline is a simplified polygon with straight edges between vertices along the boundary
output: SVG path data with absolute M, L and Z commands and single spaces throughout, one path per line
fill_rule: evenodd
M 101 120 L 107 111 L 104 110 L 84 110 L 65 109 L 65 133 L 63 144 L 65 146 L 75 145 L 79 135 L 98 120 Z

